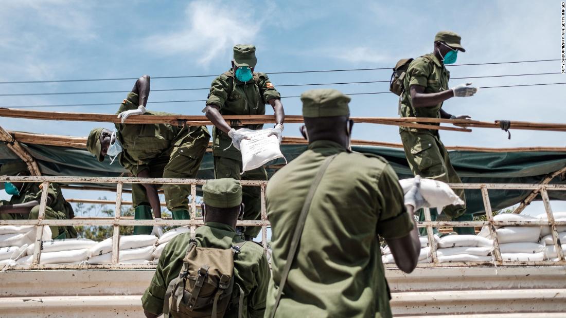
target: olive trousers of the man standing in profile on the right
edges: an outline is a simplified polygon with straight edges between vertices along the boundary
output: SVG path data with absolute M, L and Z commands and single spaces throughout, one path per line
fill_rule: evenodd
M 448 151 L 438 136 L 407 130 L 402 131 L 400 135 L 405 156 L 413 175 L 447 183 L 462 183 L 462 180 L 458 177 L 456 170 L 450 163 Z M 466 202 L 464 189 L 454 189 L 454 192 Z M 452 220 L 458 220 L 465 214 L 466 206 L 465 204 L 462 206 L 451 205 L 444 207 L 442 211 L 451 217 Z M 421 214 L 423 214 L 422 211 Z M 438 212 L 436 212 L 436 209 L 432 209 L 432 219 L 436 220 L 437 216 Z M 419 219 L 424 219 L 424 216 L 421 215 Z M 468 219 L 469 217 L 464 217 L 464 220 Z M 474 234 L 473 228 L 455 228 L 454 230 L 460 234 Z

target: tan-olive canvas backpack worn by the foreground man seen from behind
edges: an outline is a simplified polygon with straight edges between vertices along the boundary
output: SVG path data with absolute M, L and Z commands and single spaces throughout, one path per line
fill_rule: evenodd
M 179 277 L 169 283 L 165 293 L 165 317 L 224 317 L 229 307 L 238 304 L 242 317 L 242 288 L 234 283 L 234 256 L 246 242 L 231 249 L 199 247 L 191 239 Z M 233 293 L 238 286 L 239 295 Z M 239 300 L 236 300 L 239 299 Z

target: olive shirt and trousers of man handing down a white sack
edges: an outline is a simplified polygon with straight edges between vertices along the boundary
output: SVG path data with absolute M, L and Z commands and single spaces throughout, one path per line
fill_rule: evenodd
M 254 73 L 254 79 L 241 82 L 235 78 L 232 69 L 212 81 L 207 105 L 220 108 L 222 115 L 265 115 L 265 104 L 281 95 L 269 81 L 265 73 Z M 228 121 L 234 129 L 262 129 L 263 124 L 241 125 Z M 231 146 L 227 133 L 214 127 L 212 129 L 212 151 L 214 154 L 215 178 L 234 178 L 236 180 L 267 180 L 264 167 L 242 172 L 242 153 Z M 243 187 L 243 202 L 246 206 L 245 220 L 259 220 L 261 216 L 260 189 L 257 186 Z M 256 237 L 259 226 L 248 226 L 247 237 Z

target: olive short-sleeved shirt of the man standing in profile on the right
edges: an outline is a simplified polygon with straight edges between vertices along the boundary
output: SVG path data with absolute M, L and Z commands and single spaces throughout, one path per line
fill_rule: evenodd
M 411 85 L 422 86 L 425 94 L 439 93 L 448 89 L 449 79 L 450 72 L 443 64 L 440 64 L 434 54 L 430 53 L 414 59 L 413 62 L 409 64 L 409 68 L 405 75 L 403 84 L 405 92 L 401 95 L 400 101 L 401 117 L 440 118 L 440 108 L 443 103 L 440 102 L 436 106 L 415 108 L 412 106 L 410 87 Z M 439 125 L 436 123 L 430 124 Z M 432 134 L 438 133 L 438 131 L 432 132 L 428 129 L 405 127 L 400 127 L 400 131 L 401 130 L 409 130 L 411 132 L 428 132 Z

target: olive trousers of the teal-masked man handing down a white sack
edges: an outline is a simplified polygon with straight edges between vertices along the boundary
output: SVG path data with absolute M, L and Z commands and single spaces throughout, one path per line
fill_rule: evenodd
M 235 180 L 267 180 L 264 167 L 244 172 L 242 162 L 226 157 L 214 157 L 215 178 L 234 178 Z M 244 203 L 244 220 L 261 219 L 261 190 L 259 186 L 243 186 L 242 201 Z M 246 238 L 255 238 L 261 231 L 261 226 L 246 226 L 243 234 Z

